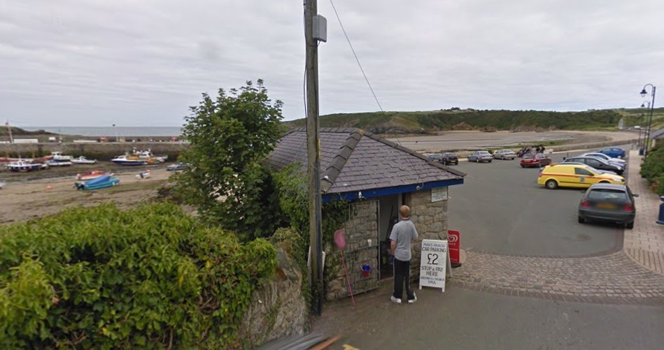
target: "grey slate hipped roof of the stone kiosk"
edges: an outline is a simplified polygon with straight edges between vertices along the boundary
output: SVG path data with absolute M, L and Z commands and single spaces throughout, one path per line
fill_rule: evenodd
M 341 194 L 445 180 L 465 176 L 373 133 L 355 128 L 320 129 L 320 189 Z M 306 166 L 306 129 L 287 133 L 269 156 L 277 170 L 295 161 Z

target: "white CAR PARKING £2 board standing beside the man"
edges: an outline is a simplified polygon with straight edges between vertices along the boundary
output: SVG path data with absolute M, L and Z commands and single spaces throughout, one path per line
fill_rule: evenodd
M 420 289 L 440 288 L 445 291 L 447 270 L 447 240 L 423 240 L 420 258 Z

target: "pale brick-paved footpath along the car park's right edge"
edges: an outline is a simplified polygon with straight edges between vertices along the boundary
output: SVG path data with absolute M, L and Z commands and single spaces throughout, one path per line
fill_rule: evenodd
M 625 230 L 623 249 L 635 261 L 646 268 L 664 275 L 664 225 L 659 225 L 659 197 L 648 189 L 648 182 L 641 178 L 641 157 L 638 151 L 630 151 L 628 158 L 628 185 L 636 198 L 636 220 L 633 230 Z

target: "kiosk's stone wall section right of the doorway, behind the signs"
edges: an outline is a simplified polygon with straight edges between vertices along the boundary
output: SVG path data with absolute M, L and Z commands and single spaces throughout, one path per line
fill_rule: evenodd
M 418 233 L 417 242 L 411 245 L 411 281 L 420 278 L 422 240 L 447 239 L 447 202 L 447 198 L 432 202 L 430 189 L 406 195 L 406 205 L 411 207 L 411 221 Z

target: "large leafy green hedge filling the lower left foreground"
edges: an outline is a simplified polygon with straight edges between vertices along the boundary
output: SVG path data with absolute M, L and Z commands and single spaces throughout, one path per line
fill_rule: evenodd
M 275 267 L 266 240 L 242 245 L 167 203 L 0 226 L 0 349 L 241 347 Z

